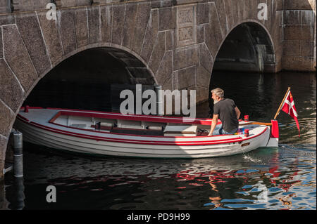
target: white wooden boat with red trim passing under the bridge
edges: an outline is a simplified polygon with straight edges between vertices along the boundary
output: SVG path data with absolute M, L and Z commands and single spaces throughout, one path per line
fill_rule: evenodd
M 240 131 L 248 129 L 249 135 L 207 136 L 211 120 L 26 106 L 14 128 L 37 145 L 123 157 L 223 157 L 278 146 L 277 121 L 266 126 L 240 120 Z

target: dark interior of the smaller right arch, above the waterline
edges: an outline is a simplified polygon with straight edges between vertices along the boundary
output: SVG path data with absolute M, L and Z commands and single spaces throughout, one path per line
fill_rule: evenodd
M 213 70 L 269 72 L 274 65 L 273 46 L 266 30 L 255 22 L 245 22 L 225 39 Z

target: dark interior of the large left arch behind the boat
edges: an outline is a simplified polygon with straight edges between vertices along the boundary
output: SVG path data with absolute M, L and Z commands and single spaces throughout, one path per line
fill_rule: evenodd
M 117 112 L 122 89 L 153 88 L 147 67 L 118 48 L 92 48 L 64 60 L 46 74 L 23 105 Z

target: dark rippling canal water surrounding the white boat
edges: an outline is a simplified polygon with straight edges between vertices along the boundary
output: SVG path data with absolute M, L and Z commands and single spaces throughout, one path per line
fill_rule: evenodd
M 4 194 L 0 208 L 316 209 L 316 74 L 214 72 L 211 83 L 211 88 L 221 87 L 226 98 L 235 100 L 242 116 L 266 122 L 273 119 L 290 86 L 300 137 L 294 120 L 280 112 L 279 147 L 231 157 L 84 157 L 25 143 L 23 182 L 16 183 L 12 173 L 6 174 L 0 186 L 0 195 Z M 46 106 L 41 101 L 45 94 L 54 95 L 49 85 L 37 94 L 41 98 L 29 100 L 32 105 Z M 59 102 L 57 97 L 50 100 Z M 92 98 L 74 101 L 74 105 L 92 103 L 92 110 L 104 110 Z M 211 107 L 209 102 L 197 106 L 197 117 L 210 117 Z M 46 202 L 49 185 L 56 187 L 55 203 Z

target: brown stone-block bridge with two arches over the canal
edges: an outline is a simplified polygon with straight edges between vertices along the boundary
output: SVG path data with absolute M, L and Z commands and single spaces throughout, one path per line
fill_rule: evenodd
M 51 2 L 56 20 L 46 18 Z M 81 51 L 117 58 L 131 83 L 195 89 L 198 102 L 209 96 L 216 61 L 218 69 L 259 72 L 316 66 L 312 0 L 1 0 L 0 27 L 0 178 L 27 95 Z

